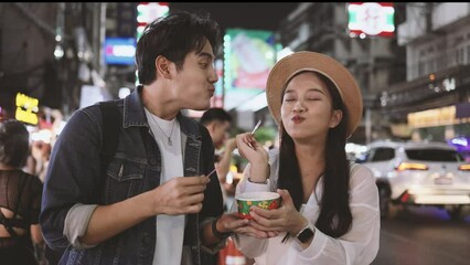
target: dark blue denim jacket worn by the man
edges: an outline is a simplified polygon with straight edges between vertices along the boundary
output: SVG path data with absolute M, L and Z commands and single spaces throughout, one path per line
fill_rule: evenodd
M 117 100 L 122 126 L 117 131 L 118 146 L 106 176 L 102 173 L 105 171 L 99 156 L 103 118 L 98 105 L 75 112 L 54 144 L 40 223 L 53 250 L 66 247 L 60 264 L 152 264 L 158 232 L 156 216 L 90 248 L 73 247 L 63 234 L 67 212 L 75 204 L 111 204 L 159 186 L 161 152 L 150 132 L 140 94 L 139 86 L 125 99 Z M 184 176 L 209 174 L 214 169 L 214 146 L 209 131 L 181 113 L 177 118 L 184 138 Z M 201 225 L 222 213 L 222 192 L 214 174 L 204 192 L 201 212 L 186 215 L 183 248 L 191 250 L 194 265 L 206 264 L 204 258 L 210 257 L 202 252 L 205 247 L 201 243 Z

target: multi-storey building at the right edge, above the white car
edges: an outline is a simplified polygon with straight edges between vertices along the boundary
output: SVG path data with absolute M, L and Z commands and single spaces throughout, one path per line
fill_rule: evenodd
M 397 30 L 406 82 L 378 96 L 394 132 L 439 141 L 470 135 L 470 3 L 406 3 Z

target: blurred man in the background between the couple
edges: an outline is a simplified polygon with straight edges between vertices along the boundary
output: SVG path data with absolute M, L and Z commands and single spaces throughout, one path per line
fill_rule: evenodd
M 228 210 L 232 205 L 228 205 L 231 202 L 227 201 L 227 192 L 235 192 L 234 186 L 226 183 L 226 176 L 232 165 L 232 155 L 236 148 L 236 139 L 227 139 L 232 116 L 223 108 L 214 107 L 205 110 L 200 121 L 207 128 L 215 149 L 224 149 L 223 153 L 216 158 L 215 168 L 217 169 L 218 181 L 221 182 L 222 194 L 224 197 L 224 209 Z

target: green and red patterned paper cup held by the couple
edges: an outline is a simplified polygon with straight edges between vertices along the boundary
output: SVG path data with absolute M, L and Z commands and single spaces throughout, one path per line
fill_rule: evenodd
M 276 192 L 245 192 L 235 195 L 238 215 L 242 219 L 253 219 L 249 209 L 255 205 L 260 209 L 271 210 L 280 206 L 281 198 Z

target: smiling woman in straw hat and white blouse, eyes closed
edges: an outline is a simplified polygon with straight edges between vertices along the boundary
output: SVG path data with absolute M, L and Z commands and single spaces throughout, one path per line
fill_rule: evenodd
M 277 210 L 253 208 L 235 237 L 257 265 L 370 264 L 378 251 L 378 193 L 372 172 L 346 159 L 345 142 L 362 117 L 352 75 L 333 59 L 297 52 L 267 82 L 280 148 L 265 151 L 252 134 L 237 136 L 249 165 L 236 194 L 277 191 Z M 253 146 L 253 148 L 250 147 Z

